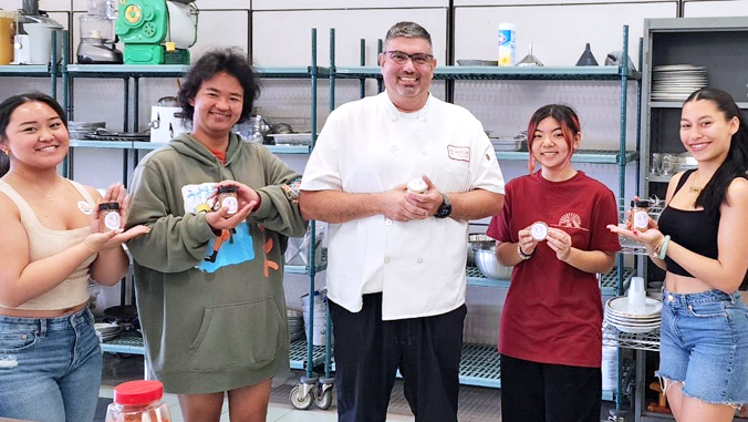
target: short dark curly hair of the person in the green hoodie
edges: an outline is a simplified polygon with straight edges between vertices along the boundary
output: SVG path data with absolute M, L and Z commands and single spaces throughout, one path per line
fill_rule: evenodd
M 245 89 L 245 103 L 237 123 L 242 123 L 249 119 L 252 113 L 252 104 L 260 96 L 260 81 L 249 64 L 247 54 L 239 49 L 229 48 L 216 49 L 202 54 L 185 75 L 178 94 L 179 106 L 181 106 L 185 121 L 191 122 L 195 113 L 195 107 L 189 104 L 189 100 L 195 99 L 202 82 L 221 72 L 236 78 L 241 88 Z

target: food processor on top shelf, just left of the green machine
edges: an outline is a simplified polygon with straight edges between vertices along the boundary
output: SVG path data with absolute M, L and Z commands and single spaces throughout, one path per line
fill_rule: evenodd
M 114 44 L 114 23 L 117 20 L 114 0 L 89 0 L 89 13 L 82 14 L 81 42 L 77 44 L 80 64 L 122 64 L 122 51 Z

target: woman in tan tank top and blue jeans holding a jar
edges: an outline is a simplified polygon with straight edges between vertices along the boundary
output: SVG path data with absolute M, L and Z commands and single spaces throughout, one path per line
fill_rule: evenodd
M 69 147 L 60 105 L 41 93 L 0 104 L 0 418 L 92 421 L 101 351 L 87 310 L 87 280 L 112 286 L 127 272 L 122 243 L 127 197 L 102 196 L 61 177 Z M 3 172 L 4 173 L 4 172 Z M 106 231 L 97 203 L 120 204 L 121 227 Z

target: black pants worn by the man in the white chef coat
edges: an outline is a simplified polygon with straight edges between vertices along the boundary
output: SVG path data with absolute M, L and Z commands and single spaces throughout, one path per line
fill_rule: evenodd
M 360 312 L 330 301 L 341 422 L 384 422 L 399 368 L 416 422 L 456 422 L 467 307 L 424 318 L 382 321 L 382 294 Z

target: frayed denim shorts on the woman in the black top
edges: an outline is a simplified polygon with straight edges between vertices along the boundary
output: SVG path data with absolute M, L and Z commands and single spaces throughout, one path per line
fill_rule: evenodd
M 663 291 L 659 377 L 708 403 L 748 403 L 748 307 L 740 292 Z

